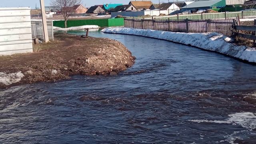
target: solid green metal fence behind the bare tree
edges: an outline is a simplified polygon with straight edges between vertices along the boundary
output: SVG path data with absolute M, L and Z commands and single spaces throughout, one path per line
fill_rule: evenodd
M 110 27 L 110 26 L 124 26 L 124 18 L 114 18 L 114 19 L 92 19 L 92 20 L 68 20 L 67 27 L 72 26 L 84 26 L 84 25 L 97 25 L 100 27 Z M 60 28 L 65 27 L 64 20 L 54 21 L 53 26 Z

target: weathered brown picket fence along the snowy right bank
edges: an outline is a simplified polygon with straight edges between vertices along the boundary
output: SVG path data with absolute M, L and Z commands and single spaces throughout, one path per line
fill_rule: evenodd
M 232 36 L 233 20 L 148 20 L 124 19 L 124 26 L 128 28 L 163 30 L 170 32 L 217 32 Z

